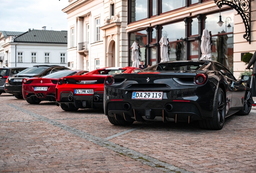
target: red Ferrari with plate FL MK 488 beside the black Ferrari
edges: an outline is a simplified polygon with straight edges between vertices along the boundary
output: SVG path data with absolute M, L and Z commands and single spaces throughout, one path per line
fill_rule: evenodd
M 64 111 L 79 108 L 103 108 L 104 80 L 109 74 L 134 73 L 136 67 L 106 67 L 93 70 L 82 76 L 60 78 L 56 86 L 56 105 Z

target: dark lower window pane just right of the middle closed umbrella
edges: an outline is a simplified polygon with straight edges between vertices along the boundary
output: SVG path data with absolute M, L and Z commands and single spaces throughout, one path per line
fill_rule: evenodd
M 185 58 L 185 42 L 178 41 L 170 43 L 169 60 L 186 60 Z

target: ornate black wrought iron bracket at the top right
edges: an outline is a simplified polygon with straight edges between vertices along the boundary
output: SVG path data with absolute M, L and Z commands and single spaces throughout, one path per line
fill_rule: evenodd
M 219 8 L 223 5 L 232 7 L 243 19 L 246 33 L 244 38 L 251 44 L 251 0 L 214 0 Z

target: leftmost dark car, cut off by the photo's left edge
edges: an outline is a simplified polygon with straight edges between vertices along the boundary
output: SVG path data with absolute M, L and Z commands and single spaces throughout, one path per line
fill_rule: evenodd
M 25 70 L 28 67 L 4 67 L 4 68 L 0 68 L 0 95 L 2 93 L 5 93 L 4 91 L 4 84 L 6 79 L 13 75 L 13 74 L 17 74 L 23 70 Z

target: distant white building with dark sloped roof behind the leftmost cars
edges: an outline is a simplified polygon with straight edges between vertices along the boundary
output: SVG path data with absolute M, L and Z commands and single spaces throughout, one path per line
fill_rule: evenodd
M 45 29 L 24 33 L 0 31 L 0 67 L 67 66 L 67 31 Z

